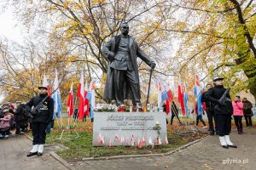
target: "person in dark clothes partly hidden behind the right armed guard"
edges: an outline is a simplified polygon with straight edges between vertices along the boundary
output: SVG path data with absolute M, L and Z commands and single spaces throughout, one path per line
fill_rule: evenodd
M 212 84 L 208 83 L 207 84 L 207 91 L 210 88 L 212 88 Z M 214 114 L 214 108 L 213 108 L 212 102 L 207 100 L 206 97 L 205 97 L 207 91 L 202 94 L 201 102 L 202 103 L 205 102 L 205 104 L 206 104 L 208 124 L 209 124 L 209 132 L 210 132 L 210 135 L 214 135 L 215 132 L 216 132 L 216 134 L 218 134 L 218 131 L 217 131 L 217 121 L 216 121 L 216 116 Z M 213 120 L 214 120 L 214 124 L 215 125 L 213 125 Z M 214 127 L 215 127 L 215 131 L 214 131 Z

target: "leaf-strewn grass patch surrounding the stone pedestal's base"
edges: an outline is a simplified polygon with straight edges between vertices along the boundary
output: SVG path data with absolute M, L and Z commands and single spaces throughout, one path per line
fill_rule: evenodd
M 62 122 L 65 124 L 67 120 L 63 119 Z M 154 153 L 165 153 L 170 150 L 175 150 L 183 144 L 200 139 L 205 135 L 195 136 L 180 136 L 177 133 L 177 125 L 167 127 L 167 139 L 169 144 L 163 144 L 159 146 L 143 146 L 139 149 L 131 146 L 103 146 L 94 147 L 92 146 L 92 123 L 91 122 L 79 122 L 76 125 L 76 130 L 79 133 L 80 138 L 75 138 L 73 131 L 66 131 L 63 138 L 60 140 L 61 129 L 58 129 L 58 123 L 55 123 L 55 129 L 47 134 L 46 144 L 63 144 L 68 149 L 58 150 L 56 153 L 67 161 L 79 161 L 84 157 L 96 157 L 96 156 L 118 156 L 118 155 L 138 155 L 138 154 L 154 154 Z M 177 123 L 174 123 L 177 124 Z M 73 134 L 73 137 L 70 135 Z M 30 134 L 31 135 L 31 134 Z M 69 139 L 67 139 L 67 137 Z

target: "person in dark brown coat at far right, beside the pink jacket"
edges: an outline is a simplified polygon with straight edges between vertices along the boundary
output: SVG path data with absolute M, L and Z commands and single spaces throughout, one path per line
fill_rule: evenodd
M 243 105 L 242 111 L 243 111 L 244 118 L 246 120 L 247 127 L 252 127 L 253 126 L 253 123 L 252 123 L 253 104 L 250 101 L 248 101 L 247 98 L 243 98 L 242 105 Z

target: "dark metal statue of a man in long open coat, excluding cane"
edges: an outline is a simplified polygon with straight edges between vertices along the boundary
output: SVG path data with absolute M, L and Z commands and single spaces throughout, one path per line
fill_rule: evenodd
M 139 85 L 137 57 L 154 70 L 155 63 L 138 47 L 135 38 L 129 36 L 129 26 L 122 23 L 121 34 L 113 37 L 102 47 L 108 59 L 107 81 L 103 99 L 114 99 L 118 106 L 124 105 L 124 99 L 132 99 L 133 105 L 142 106 Z

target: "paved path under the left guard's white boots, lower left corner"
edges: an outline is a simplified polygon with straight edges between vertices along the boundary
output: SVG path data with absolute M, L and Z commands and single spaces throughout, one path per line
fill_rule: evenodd
M 56 146 L 44 148 L 43 156 L 26 157 L 31 150 L 32 141 L 25 135 L 9 135 L 9 139 L 0 140 L 0 170 L 67 170 L 59 161 L 49 156 Z

